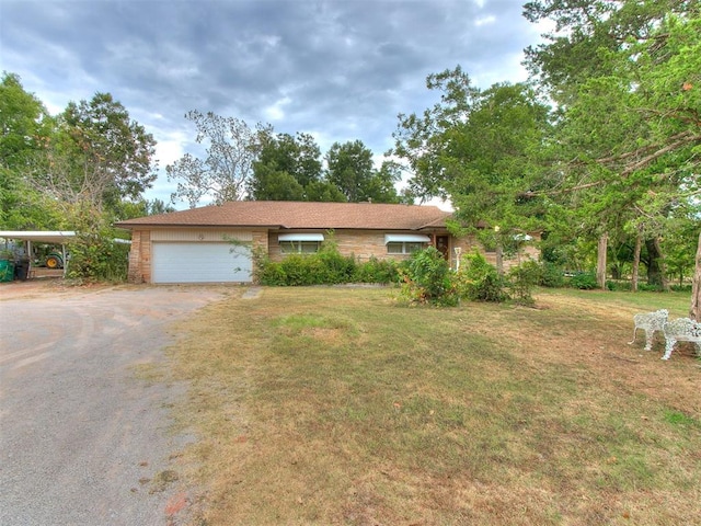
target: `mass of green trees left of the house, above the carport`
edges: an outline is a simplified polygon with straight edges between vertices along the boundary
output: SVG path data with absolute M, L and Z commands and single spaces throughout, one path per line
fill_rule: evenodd
M 50 116 L 20 78 L 0 83 L 0 228 L 76 230 L 68 275 L 120 281 L 128 245 L 118 219 L 165 211 L 141 197 L 156 179 L 156 141 L 108 93 Z

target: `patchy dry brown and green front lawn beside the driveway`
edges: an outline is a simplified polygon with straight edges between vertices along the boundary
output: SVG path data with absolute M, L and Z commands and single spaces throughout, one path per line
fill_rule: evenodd
M 172 350 L 196 524 L 701 524 L 700 363 L 625 344 L 633 312 L 687 302 L 429 309 L 313 287 L 212 305 Z

